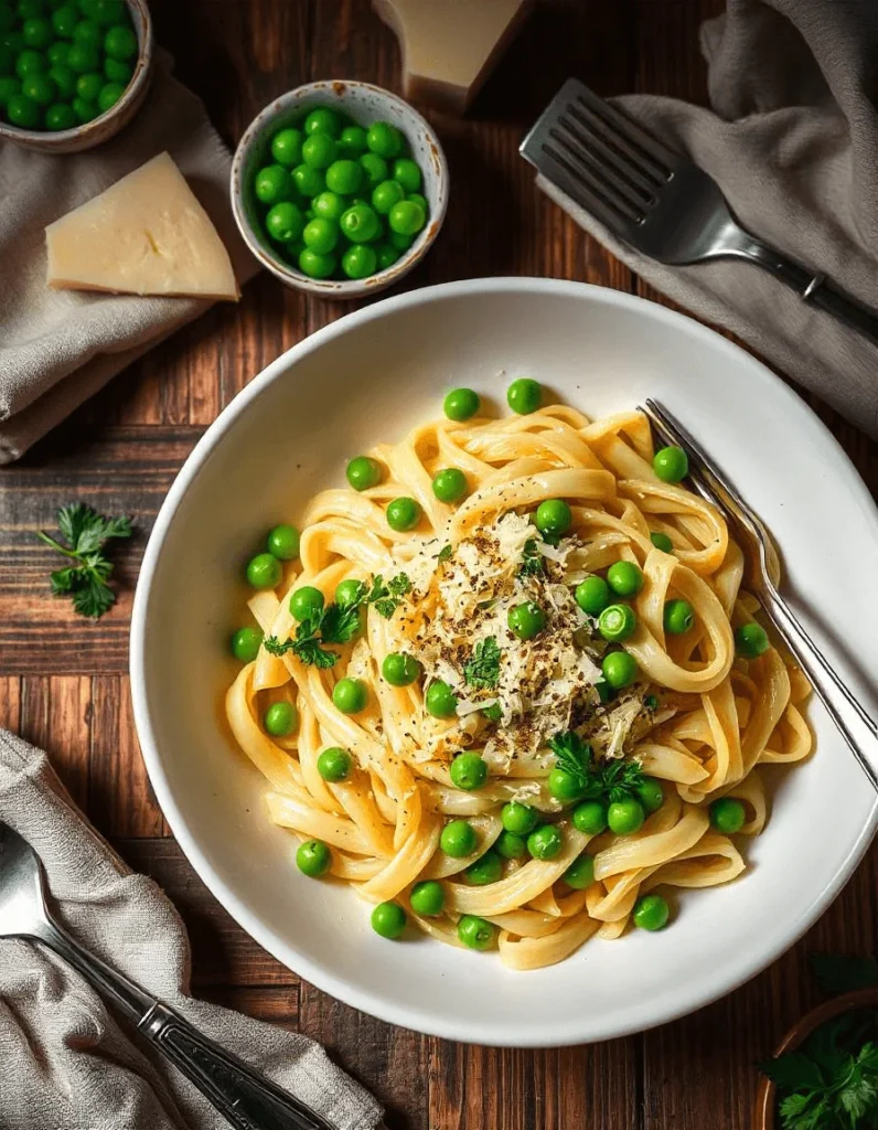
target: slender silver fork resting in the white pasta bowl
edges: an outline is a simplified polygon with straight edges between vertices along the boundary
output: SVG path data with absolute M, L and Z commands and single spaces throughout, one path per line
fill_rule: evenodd
M 780 591 L 777 550 L 765 524 L 676 416 L 657 400 L 647 400 L 640 410 L 666 443 L 686 451 L 692 485 L 730 519 L 744 550 L 747 588 L 758 597 L 766 617 L 796 657 L 838 732 L 878 790 L 878 724 L 828 662 Z

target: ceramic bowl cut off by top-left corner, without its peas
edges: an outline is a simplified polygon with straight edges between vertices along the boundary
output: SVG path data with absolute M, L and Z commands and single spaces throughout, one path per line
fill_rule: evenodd
M 99 118 L 72 130 L 21 130 L 8 122 L 0 122 L 0 138 L 36 149 L 40 153 L 80 153 L 108 141 L 128 125 L 140 108 L 149 86 L 153 67 L 153 20 L 146 0 L 125 0 L 137 35 L 138 53 L 134 73 L 119 102 Z

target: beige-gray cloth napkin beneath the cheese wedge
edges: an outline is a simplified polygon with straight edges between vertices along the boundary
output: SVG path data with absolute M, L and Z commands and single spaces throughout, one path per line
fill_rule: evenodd
M 258 270 L 228 203 L 228 150 L 171 66 L 159 51 L 146 102 L 105 145 L 47 156 L 0 142 L 0 463 L 18 459 L 111 376 L 211 305 L 50 290 L 46 224 L 166 149 L 214 220 L 238 282 Z

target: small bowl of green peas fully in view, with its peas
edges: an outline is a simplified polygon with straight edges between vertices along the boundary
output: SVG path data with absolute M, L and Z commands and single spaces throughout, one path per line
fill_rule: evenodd
M 431 125 L 402 98 L 357 81 L 310 82 L 247 128 L 232 208 L 260 262 L 288 286 L 360 298 L 429 250 L 449 171 Z

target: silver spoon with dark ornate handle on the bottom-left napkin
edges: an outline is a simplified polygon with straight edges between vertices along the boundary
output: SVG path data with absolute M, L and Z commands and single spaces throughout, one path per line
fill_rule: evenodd
M 34 849 L 0 822 L 0 938 L 29 938 L 54 950 L 89 982 L 238 1130 L 336 1130 L 208 1040 L 167 1005 L 89 954 L 53 920 Z

